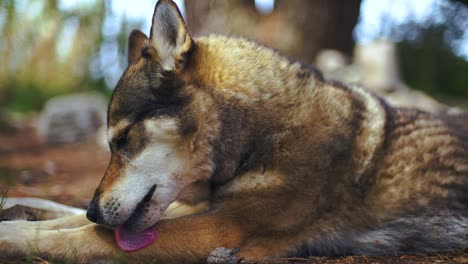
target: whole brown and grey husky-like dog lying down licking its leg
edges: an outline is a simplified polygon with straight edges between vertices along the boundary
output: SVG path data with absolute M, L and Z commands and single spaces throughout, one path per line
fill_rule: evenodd
M 467 121 L 393 108 L 244 39 L 192 38 L 170 0 L 152 22 L 131 33 L 109 105 L 94 223 L 2 222 L 0 255 L 232 263 L 468 245 Z M 162 219 L 175 201 L 192 214 Z M 149 246 L 118 248 L 112 230 L 151 226 Z

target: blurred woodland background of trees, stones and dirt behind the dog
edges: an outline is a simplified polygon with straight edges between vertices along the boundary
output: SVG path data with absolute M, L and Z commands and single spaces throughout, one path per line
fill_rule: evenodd
M 176 2 L 194 36 L 257 40 L 396 105 L 468 105 L 467 0 Z M 155 3 L 0 1 L 0 191 L 86 206 L 108 162 L 127 36 L 149 32 Z

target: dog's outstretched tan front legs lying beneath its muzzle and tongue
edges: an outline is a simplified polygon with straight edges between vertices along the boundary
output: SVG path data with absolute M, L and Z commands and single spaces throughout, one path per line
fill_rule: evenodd
M 154 244 L 124 253 L 117 248 L 113 231 L 95 224 L 72 229 L 25 230 L 0 223 L 0 255 L 41 256 L 79 263 L 100 259 L 200 263 L 217 247 L 237 247 L 244 234 L 239 225 L 213 212 L 162 220 L 157 229 L 159 235 Z

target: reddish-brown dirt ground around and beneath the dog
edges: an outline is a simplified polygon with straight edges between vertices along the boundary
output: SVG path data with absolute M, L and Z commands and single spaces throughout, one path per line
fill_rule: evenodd
M 45 146 L 28 123 L 0 132 L 0 194 L 40 197 L 85 209 L 106 169 L 109 154 L 95 143 Z M 1 259 L 1 258 L 0 258 Z M 0 261 L 1 262 L 1 261 Z M 6 263 L 18 263 L 15 261 Z M 49 263 L 30 259 L 20 263 Z M 279 259 L 261 263 L 468 263 L 468 250 L 434 256 L 348 256 Z

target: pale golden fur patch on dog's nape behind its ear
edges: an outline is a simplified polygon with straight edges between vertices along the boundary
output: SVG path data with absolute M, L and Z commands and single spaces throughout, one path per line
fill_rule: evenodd
M 244 39 L 198 38 L 192 56 L 191 80 L 238 104 L 259 106 L 264 111 L 287 110 L 292 104 L 310 108 L 313 88 L 322 80 L 310 68 Z M 296 113 L 287 114 L 285 118 L 297 117 Z

